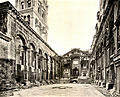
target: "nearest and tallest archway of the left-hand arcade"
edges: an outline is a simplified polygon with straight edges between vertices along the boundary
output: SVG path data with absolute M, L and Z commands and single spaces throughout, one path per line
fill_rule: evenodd
M 16 37 L 16 64 L 17 64 L 17 74 L 16 81 L 23 82 L 25 75 L 26 66 L 26 42 L 22 35 L 17 35 Z

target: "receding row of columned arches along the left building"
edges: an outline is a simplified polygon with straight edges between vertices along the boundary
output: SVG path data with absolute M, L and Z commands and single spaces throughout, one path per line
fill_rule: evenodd
M 18 82 L 25 79 L 31 82 L 48 80 L 53 78 L 54 59 L 40 48 L 37 49 L 34 42 L 27 45 L 23 35 L 16 37 L 16 68 Z

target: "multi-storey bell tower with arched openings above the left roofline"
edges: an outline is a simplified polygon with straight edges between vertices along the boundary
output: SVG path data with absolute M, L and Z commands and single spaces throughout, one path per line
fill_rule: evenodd
M 15 0 L 15 7 L 28 25 L 47 42 L 47 0 Z

